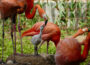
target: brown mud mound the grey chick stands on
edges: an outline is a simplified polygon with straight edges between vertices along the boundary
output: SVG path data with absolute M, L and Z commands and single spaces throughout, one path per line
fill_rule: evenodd
M 9 56 L 7 62 L 13 61 L 13 58 L 13 55 Z M 55 65 L 54 55 L 16 55 L 15 59 L 16 63 L 9 63 L 7 65 Z

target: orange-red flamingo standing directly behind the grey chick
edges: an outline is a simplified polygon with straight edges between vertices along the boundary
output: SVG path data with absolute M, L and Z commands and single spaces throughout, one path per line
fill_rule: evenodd
M 43 24 L 44 24 L 44 22 L 37 22 L 36 24 L 33 25 L 32 28 L 23 32 L 22 37 L 24 37 L 24 36 L 34 36 L 36 34 L 39 34 L 40 26 L 42 26 Z M 61 35 L 60 28 L 56 24 L 54 24 L 52 22 L 48 22 L 47 25 L 45 26 L 45 28 L 43 29 L 43 32 L 42 32 L 43 42 L 47 41 L 47 53 L 48 53 L 49 41 L 50 40 L 53 41 L 55 46 L 57 47 L 57 44 L 60 41 L 60 35 Z

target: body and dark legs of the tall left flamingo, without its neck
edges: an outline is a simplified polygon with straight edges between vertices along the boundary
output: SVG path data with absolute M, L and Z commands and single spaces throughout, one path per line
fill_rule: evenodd
M 3 62 L 3 46 L 4 46 L 4 21 L 7 18 L 11 18 L 11 21 L 12 21 L 11 37 L 12 37 L 13 50 L 15 51 L 14 42 L 13 42 L 13 30 L 14 30 L 14 35 L 16 39 L 16 31 L 15 31 L 16 15 L 17 13 L 24 12 L 25 8 L 26 8 L 25 0 L 0 0 L 0 16 L 1 16 L 1 19 L 3 20 L 2 62 Z

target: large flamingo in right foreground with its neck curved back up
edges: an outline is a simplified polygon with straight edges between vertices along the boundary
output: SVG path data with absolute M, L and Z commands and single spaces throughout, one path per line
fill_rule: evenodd
M 75 35 L 80 35 L 78 32 Z M 55 61 L 56 65 L 80 65 L 80 62 L 85 61 L 90 48 L 90 32 L 84 40 L 84 50 L 81 54 L 81 44 L 74 38 L 65 38 L 58 43 Z

